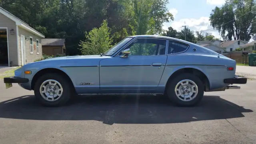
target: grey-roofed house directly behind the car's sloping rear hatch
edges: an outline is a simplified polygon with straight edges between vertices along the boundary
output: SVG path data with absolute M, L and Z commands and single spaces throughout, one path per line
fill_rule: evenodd
M 220 54 L 223 54 L 225 52 L 224 48 L 220 47 L 220 40 L 214 40 L 214 41 L 198 41 L 196 44 L 203 46 L 205 48 L 208 48 L 210 50 L 213 50 L 215 52 L 218 52 Z

